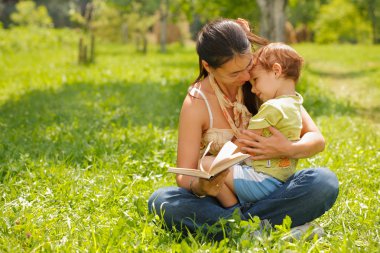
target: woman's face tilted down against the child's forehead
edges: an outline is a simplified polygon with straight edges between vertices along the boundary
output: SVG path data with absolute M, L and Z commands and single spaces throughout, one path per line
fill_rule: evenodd
M 237 55 L 221 67 L 213 69 L 212 74 L 219 85 L 240 87 L 250 79 L 249 71 L 252 66 L 252 53 L 247 52 L 243 55 Z

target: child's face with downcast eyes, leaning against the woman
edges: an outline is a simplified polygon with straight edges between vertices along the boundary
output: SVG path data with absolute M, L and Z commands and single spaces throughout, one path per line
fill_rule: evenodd
M 265 70 L 260 65 L 253 67 L 250 82 L 252 84 L 252 92 L 263 102 L 275 98 L 280 85 L 275 72 Z

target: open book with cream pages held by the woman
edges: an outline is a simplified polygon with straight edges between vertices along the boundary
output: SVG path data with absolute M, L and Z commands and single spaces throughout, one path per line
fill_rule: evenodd
M 243 154 L 241 152 L 234 154 L 237 146 L 231 141 L 226 142 L 226 144 L 224 144 L 222 149 L 219 151 L 218 155 L 215 157 L 215 160 L 212 162 L 210 171 L 207 172 L 203 169 L 202 160 L 210 150 L 211 143 L 212 142 L 208 144 L 202 158 L 199 161 L 199 170 L 169 167 L 168 172 L 210 179 L 220 172 L 230 168 L 232 165 L 235 165 L 250 157 L 250 155 Z

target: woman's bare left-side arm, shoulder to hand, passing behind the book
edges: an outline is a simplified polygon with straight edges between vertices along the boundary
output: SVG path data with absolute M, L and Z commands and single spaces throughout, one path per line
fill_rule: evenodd
M 199 150 L 203 129 L 208 126 L 208 111 L 202 99 L 187 96 L 183 103 L 178 129 L 177 167 L 198 169 Z M 222 185 L 226 173 L 220 173 L 213 180 L 199 179 L 186 175 L 176 175 L 177 185 L 191 190 L 198 196 L 216 196 Z M 191 189 L 190 189 L 191 183 Z

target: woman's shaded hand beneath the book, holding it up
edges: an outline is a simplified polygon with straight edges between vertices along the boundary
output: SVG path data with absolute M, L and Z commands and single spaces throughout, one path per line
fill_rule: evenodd
M 225 170 L 210 180 L 198 178 L 197 185 L 192 186 L 191 190 L 199 196 L 207 195 L 215 197 L 220 192 L 228 172 L 229 170 Z

